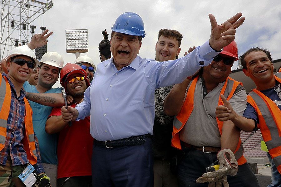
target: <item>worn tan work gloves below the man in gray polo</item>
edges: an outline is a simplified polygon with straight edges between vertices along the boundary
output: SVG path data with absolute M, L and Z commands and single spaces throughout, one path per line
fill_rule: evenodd
M 229 149 L 220 150 L 217 154 L 219 160 L 219 170 L 207 172 L 199 177 L 197 183 L 209 182 L 209 187 L 229 187 L 226 180 L 227 175 L 236 175 L 238 171 L 238 163 L 233 152 Z

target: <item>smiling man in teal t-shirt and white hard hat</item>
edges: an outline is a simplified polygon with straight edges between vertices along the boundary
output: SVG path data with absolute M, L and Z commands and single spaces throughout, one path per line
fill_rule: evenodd
M 40 142 L 42 164 L 47 175 L 52 179 L 52 186 L 56 186 L 57 182 L 57 134 L 47 134 L 45 131 L 46 120 L 52 111 L 52 106 L 46 106 L 47 104 L 44 102 L 53 103 L 53 100 L 51 98 L 43 99 L 34 93 L 62 93 L 62 88 L 52 88 L 58 81 L 62 67 L 62 56 L 57 52 L 47 52 L 42 56 L 40 62 L 38 83 L 35 86 L 28 82 L 23 84 L 23 88 L 27 92 L 26 98 L 33 110 L 32 121 L 34 132 Z M 38 101 L 42 103 L 36 103 Z

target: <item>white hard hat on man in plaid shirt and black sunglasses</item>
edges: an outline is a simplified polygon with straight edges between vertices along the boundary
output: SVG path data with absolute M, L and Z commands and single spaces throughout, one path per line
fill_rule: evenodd
M 28 56 L 28 57 L 32 58 L 35 62 L 35 68 L 38 67 L 39 61 L 36 59 L 35 54 L 27 45 L 18 46 L 16 48 L 12 49 L 11 52 L 8 54 L 8 56 L 5 58 L 6 66 L 7 66 L 7 62 L 10 62 L 11 58 L 13 56 L 17 56 L 17 55 L 23 55 L 23 56 Z

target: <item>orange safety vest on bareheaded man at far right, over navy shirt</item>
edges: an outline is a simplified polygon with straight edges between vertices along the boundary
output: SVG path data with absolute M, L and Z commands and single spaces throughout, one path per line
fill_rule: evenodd
M 281 73 L 275 74 L 274 78 L 281 83 Z M 270 98 L 259 90 L 254 89 L 249 93 L 247 99 L 258 114 L 258 127 L 269 154 L 281 173 L 281 111 Z

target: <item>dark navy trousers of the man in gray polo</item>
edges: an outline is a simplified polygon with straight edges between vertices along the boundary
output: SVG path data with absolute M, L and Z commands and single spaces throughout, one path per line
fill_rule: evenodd
M 185 148 L 184 156 L 178 165 L 180 187 L 208 187 L 208 183 L 196 183 L 196 179 L 206 173 L 206 168 L 217 160 L 216 153 Z M 239 165 L 237 175 L 227 176 L 229 187 L 259 187 L 258 180 L 247 163 Z

